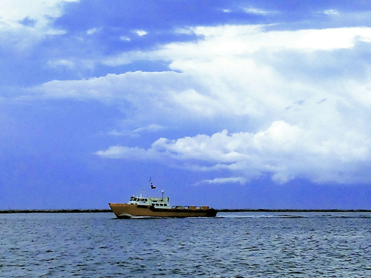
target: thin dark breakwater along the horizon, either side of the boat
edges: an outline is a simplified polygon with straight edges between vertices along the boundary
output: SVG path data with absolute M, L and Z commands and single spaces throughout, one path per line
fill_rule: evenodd
M 218 212 L 371 212 L 371 209 L 217 209 Z M 0 214 L 15 213 L 96 213 L 111 209 L 6 209 Z

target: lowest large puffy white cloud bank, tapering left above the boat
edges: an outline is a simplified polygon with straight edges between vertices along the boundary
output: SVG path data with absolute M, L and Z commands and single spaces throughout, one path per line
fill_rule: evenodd
M 192 161 L 194 171 L 230 170 L 243 177 L 218 178 L 207 183 L 240 182 L 269 175 L 279 183 L 293 178 L 315 182 L 365 182 L 370 175 L 358 174 L 359 164 L 369 162 L 370 139 L 355 131 L 323 136 L 284 121 L 275 121 L 257 133 L 227 130 L 211 136 L 197 135 L 177 140 L 160 138 L 149 149 L 114 146 L 97 154 L 108 158 L 161 159 Z M 209 166 L 205 166 L 209 165 Z M 211 165 L 211 166 L 210 166 Z M 358 169 L 358 170 L 357 170 Z M 201 182 L 202 183 L 202 182 Z

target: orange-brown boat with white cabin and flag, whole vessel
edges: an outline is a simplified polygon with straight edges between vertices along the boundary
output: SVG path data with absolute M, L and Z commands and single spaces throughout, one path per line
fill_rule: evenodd
M 151 179 L 150 179 L 151 181 Z M 151 189 L 155 189 L 151 182 Z M 147 197 L 145 194 L 131 196 L 127 203 L 108 203 L 117 218 L 151 217 L 215 217 L 217 210 L 209 206 L 170 206 L 169 197 Z

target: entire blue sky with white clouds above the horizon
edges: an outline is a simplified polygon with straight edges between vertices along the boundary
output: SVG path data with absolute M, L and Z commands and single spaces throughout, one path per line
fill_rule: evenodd
M 0 209 L 371 209 L 368 1 L 0 1 Z M 151 177 L 156 189 L 150 189 Z

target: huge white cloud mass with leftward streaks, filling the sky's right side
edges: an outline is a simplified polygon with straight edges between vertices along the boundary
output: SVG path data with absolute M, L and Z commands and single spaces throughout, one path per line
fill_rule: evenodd
M 246 181 L 265 175 L 279 183 L 296 177 L 370 181 L 364 170 L 371 162 L 371 67 L 365 59 L 371 28 L 190 30 L 198 40 L 103 61 L 165 60 L 168 71 L 53 80 L 29 92 L 115 103 L 143 126 L 222 126 L 220 132 L 160 138 L 148 149 L 114 146 L 100 150 L 102 157 L 171 159 L 175 166 L 230 171 Z

